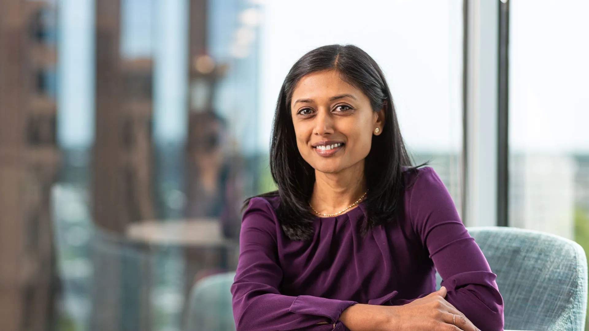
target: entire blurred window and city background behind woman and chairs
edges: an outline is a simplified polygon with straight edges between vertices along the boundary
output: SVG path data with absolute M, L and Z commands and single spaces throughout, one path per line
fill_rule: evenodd
M 468 2 L 0 0 L 0 330 L 182 330 L 193 284 L 236 267 L 244 198 L 274 188 L 282 80 L 326 44 L 381 65 L 413 158 L 465 224 L 589 249 L 589 2 Z M 486 54 L 508 75 L 472 92 L 465 63 Z M 508 109 L 491 134 L 488 109 Z M 496 131 L 507 173 L 477 156 Z M 507 207 L 473 198 L 485 178 Z

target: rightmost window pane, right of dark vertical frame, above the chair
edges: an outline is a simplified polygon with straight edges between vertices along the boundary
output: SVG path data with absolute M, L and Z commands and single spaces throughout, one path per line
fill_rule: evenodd
M 589 248 L 589 3 L 555 5 L 511 1 L 509 225 Z

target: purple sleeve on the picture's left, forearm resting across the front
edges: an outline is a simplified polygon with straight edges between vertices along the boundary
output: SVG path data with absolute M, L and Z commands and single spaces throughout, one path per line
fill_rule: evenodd
M 353 301 L 279 292 L 282 269 L 276 215 L 263 198 L 253 198 L 241 221 L 240 254 L 231 286 L 237 331 L 346 330 L 339 316 Z M 319 322 L 330 324 L 318 326 Z

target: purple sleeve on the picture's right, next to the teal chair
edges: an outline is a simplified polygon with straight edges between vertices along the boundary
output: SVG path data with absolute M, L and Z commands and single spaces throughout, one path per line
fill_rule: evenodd
M 445 299 L 482 331 L 502 330 L 503 299 L 497 275 L 466 231 L 444 183 L 432 168 L 425 167 L 410 194 L 409 217 L 448 290 Z

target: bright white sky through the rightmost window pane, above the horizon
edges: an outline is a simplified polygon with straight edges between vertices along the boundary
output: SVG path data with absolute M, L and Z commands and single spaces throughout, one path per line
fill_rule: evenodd
M 512 0 L 512 150 L 589 153 L 589 1 Z

